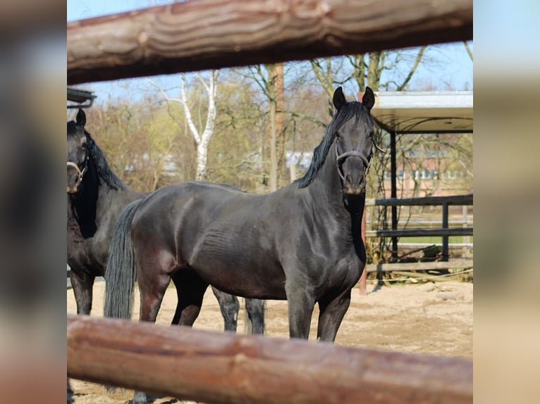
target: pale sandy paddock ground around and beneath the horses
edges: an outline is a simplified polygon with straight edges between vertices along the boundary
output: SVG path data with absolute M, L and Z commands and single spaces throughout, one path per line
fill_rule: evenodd
M 338 331 L 336 343 L 363 348 L 425 353 L 472 359 L 472 283 L 440 282 L 367 286 L 367 296 L 352 291 L 352 303 Z M 104 282 L 94 286 L 92 315 L 103 313 Z M 68 313 L 76 313 L 73 291 L 68 289 Z M 135 302 L 138 297 L 135 297 Z M 243 302 L 241 301 L 241 305 Z M 170 324 L 176 308 L 176 291 L 170 287 L 161 305 L 157 322 Z M 135 313 L 138 307 L 135 305 Z M 238 332 L 244 329 L 244 308 L 238 316 Z M 317 335 L 317 307 L 312 317 L 310 340 Z M 204 296 L 203 308 L 194 324 L 197 329 L 221 331 L 223 318 L 211 289 Z M 287 303 L 268 301 L 266 335 L 288 336 Z M 114 395 L 103 386 L 70 380 L 74 404 L 119 404 L 133 396 L 120 390 Z M 181 403 L 158 398 L 155 404 Z

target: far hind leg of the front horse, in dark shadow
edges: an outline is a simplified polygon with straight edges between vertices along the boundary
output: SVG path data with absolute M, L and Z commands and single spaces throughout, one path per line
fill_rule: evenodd
M 192 326 L 199 317 L 208 284 L 188 270 L 180 270 L 173 274 L 173 282 L 176 286 L 178 303 L 171 324 Z

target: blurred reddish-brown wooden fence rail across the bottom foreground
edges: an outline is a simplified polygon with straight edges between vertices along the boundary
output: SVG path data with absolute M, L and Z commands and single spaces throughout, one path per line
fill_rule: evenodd
M 472 403 L 472 361 L 68 315 L 68 377 L 205 403 Z

